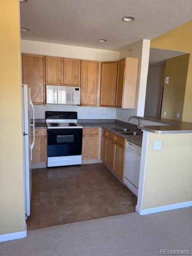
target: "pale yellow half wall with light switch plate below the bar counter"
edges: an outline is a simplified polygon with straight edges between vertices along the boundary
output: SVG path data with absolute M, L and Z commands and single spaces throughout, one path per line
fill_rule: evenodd
M 154 141 L 162 149 L 154 150 Z M 192 201 L 192 133 L 149 133 L 142 210 Z

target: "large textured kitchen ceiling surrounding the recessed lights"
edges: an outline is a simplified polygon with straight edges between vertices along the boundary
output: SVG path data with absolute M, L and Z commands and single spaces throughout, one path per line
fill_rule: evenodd
M 121 20 L 129 15 L 136 20 Z M 30 29 L 22 39 L 119 50 L 191 20 L 192 0 L 28 0 L 20 16 Z

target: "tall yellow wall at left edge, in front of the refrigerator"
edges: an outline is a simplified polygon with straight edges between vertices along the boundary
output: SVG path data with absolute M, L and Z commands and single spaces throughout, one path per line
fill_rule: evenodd
M 0 234 L 25 230 L 19 1 L 0 8 Z

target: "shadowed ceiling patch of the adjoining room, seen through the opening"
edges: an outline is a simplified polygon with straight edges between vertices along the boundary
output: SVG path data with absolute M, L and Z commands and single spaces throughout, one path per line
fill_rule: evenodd
M 183 54 L 186 54 L 186 52 L 150 48 L 149 66 L 164 66 L 166 64 L 166 60 Z

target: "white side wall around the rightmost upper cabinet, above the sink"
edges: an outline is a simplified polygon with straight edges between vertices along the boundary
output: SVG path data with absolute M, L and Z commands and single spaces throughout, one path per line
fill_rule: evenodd
M 130 116 L 143 116 L 145 108 L 146 84 L 148 74 L 148 62 L 150 52 L 150 40 L 141 40 L 128 45 L 120 51 L 120 59 L 124 57 L 139 58 L 138 67 L 138 91 L 135 109 L 116 109 L 116 119 L 127 121 Z M 118 112 L 120 112 L 118 114 Z M 121 116 L 122 113 L 122 116 Z

